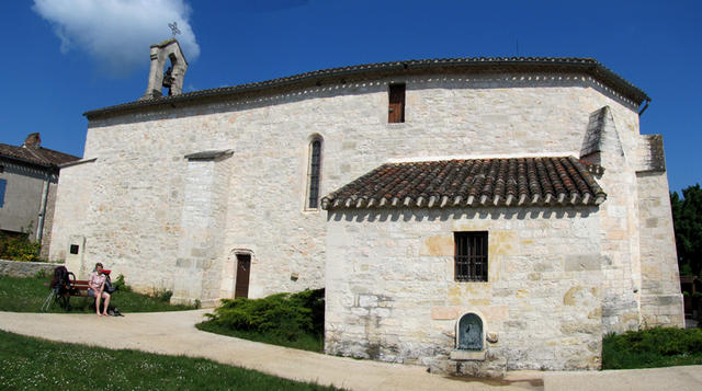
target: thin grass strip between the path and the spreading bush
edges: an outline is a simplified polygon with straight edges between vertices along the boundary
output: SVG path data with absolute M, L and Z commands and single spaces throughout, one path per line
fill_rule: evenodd
M 290 341 L 279 334 L 273 333 L 260 333 L 258 331 L 234 330 L 227 326 L 216 324 L 212 321 L 202 322 L 195 324 L 195 327 L 210 333 L 235 336 L 237 338 L 249 340 L 254 342 L 262 342 L 265 344 L 292 347 L 295 349 L 310 350 L 317 353 L 324 353 L 325 341 L 324 337 L 314 334 L 303 334 L 296 340 Z

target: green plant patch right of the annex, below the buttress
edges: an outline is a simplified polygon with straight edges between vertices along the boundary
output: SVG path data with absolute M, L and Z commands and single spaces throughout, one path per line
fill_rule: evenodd
M 702 329 L 654 327 L 608 335 L 602 369 L 636 369 L 702 364 Z

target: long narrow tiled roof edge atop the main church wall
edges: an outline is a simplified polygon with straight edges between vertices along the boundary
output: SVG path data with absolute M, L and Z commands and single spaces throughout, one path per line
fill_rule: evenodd
M 89 119 L 107 114 L 118 114 L 137 108 L 160 105 L 188 104 L 205 99 L 220 99 L 244 93 L 261 92 L 282 87 L 321 85 L 347 78 L 412 76 L 431 72 L 506 73 L 506 72 L 562 72 L 586 73 L 604 82 L 620 94 L 642 104 L 650 101 L 646 93 L 592 58 L 577 57 L 463 57 L 417 59 L 392 62 L 365 64 L 322 69 L 254 83 L 186 92 L 173 96 L 139 100 L 83 113 Z

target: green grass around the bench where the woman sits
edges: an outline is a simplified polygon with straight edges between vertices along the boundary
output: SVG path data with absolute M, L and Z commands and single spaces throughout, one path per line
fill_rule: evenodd
M 44 285 L 49 278 L 14 278 L 0 276 L 0 311 L 39 312 L 39 308 L 49 294 Z M 162 296 L 162 295 L 161 295 Z M 94 312 L 93 298 L 70 298 L 70 312 Z M 171 306 L 163 298 L 140 295 L 133 291 L 118 290 L 110 300 L 111 308 L 121 312 L 160 312 L 192 310 L 192 306 Z M 58 303 L 54 303 L 47 312 L 66 312 Z

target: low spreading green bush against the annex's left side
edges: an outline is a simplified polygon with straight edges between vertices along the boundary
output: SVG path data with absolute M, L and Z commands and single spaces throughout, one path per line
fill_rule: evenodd
M 276 294 L 263 299 L 223 299 L 211 323 L 227 329 L 296 341 L 324 334 L 324 289 Z

